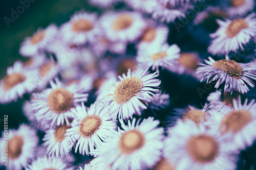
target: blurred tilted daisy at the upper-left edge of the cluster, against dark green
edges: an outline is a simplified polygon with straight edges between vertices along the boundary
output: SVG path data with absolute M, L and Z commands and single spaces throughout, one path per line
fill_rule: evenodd
M 19 48 L 19 54 L 24 57 L 37 57 L 38 53 L 44 52 L 47 46 L 56 37 L 58 28 L 51 24 L 46 29 L 39 28 L 31 37 L 25 38 Z

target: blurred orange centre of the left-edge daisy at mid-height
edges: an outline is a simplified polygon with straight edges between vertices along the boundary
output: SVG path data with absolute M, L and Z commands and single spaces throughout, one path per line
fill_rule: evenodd
M 8 90 L 17 84 L 24 82 L 25 80 L 26 77 L 19 72 L 15 72 L 10 76 L 7 75 L 3 80 L 3 89 Z

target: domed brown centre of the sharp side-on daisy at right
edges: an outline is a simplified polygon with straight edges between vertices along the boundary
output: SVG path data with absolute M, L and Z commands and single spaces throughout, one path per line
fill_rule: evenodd
M 242 76 L 242 67 L 236 61 L 222 59 L 216 61 L 212 66 L 220 68 L 232 78 L 240 79 Z

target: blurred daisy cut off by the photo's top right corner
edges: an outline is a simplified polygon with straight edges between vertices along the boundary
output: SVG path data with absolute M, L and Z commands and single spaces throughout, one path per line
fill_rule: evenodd
M 230 17 L 245 16 L 253 11 L 255 1 L 253 0 L 228 0 L 222 2 L 223 8 Z

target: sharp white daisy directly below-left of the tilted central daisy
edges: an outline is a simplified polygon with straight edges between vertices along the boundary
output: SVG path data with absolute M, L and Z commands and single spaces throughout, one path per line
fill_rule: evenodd
M 94 151 L 94 147 L 98 148 L 116 130 L 116 122 L 109 119 L 108 110 L 97 103 L 88 109 L 82 103 L 82 106 L 77 106 L 72 112 L 76 118 L 72 122 L 72 128 L 66 130 L 65 136 L 78 140 L 75 152 L 79 148 L 82 155 L 89 155 L 89 151 Z

